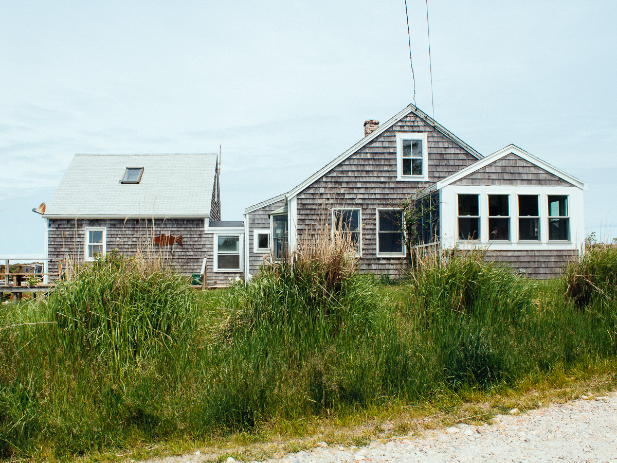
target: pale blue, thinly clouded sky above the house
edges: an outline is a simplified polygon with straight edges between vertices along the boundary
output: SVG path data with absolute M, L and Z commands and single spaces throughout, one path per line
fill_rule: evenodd
M 42 256 L 75 153 L 222 151 L 224 220 L 410 102 L 483 155 L 586 181 L 617 236 L 617 2 L 0 2 L 0 257 Z M 433 85 L 431 87 L 431 71 Z

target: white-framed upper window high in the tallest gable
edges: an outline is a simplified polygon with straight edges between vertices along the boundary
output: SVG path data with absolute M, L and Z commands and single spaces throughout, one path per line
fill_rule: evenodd
M 396 134 L 397 180 L 428 181 L 426 133 Z

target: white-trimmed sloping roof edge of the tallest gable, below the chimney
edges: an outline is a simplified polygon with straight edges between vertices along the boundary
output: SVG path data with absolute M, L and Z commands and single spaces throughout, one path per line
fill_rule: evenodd
M 456 135 L 454 135 L 452 132 L 447 130 L 447 128 L 443 127 L 440 123 L 436 122 L 428 114 L 418 109 L 418 107 L 414 106 L 413 104 L 409 104 L 398 114 L 394 115 L 394 117 L 392 117 L 391 119 L 387 120 L 385 123 L 380 125 L 375 131 L 371 132 L 368 136 L 365 136 L 362 140 L 358 141 L 358 143 L 354 144 L 354 146 L 347 149 L 347 151 L 343 152 L 338 157 L 333 159 L 333 161 L 329 162 L 324 167 L 322 167 L 320 170 L 313 173 L 313 175 L 311 175 L 305 181 L 303 181 L 296 187 L 289 190 L 288 193 L 281 194 L 279 196 L 276 196 L 276 198 L 271 198 L 271 199 L 268 199 L 267 201 L 263 201 L 263 202 L 260 202 L 259 204 L 255 204 L 254 206 L 247 207 L 246 209 L 244 209 L 244 214 L 248 214 L 249 212 L 253 212 L 257 209 L 260 209 L 260 207 L 267 206 L 268 204 L 278 201 L 283 197 L 291 198 L 292 196 L 296 196 L 296 194 L 300 193 L 302 190 L 307 188 L 307 186 L 311 185 L 313 182 L 317 181 L 320 177 L 323 177 L 323 175 L 328 173 L 330 170 L 334 169 L 334 167 L 341 164 L 341 162 L 345 161 L 349 156 L 351 156 L 356 151 L 358 151 L 358 149 L 363 148 L 363 146 L 370 143 L 370 141 L 375 140 L 375 138 L 377 138 L 379 135 L 384 133 L 384 131 L 391 128 L 395 123 L 399 122 L 401 119 L 403 119 L 408 114 L 415 114 L 421 120 L 423 120 L 423 122 L 425 122 L 427 125 L 431 125 L 432 127 L 435 128 L 435 130 L 441 132 L 443 135 L 450 138 L 450 140 L 454 141 L 462 148 L 465 148 L 466 151 L 468 151 L 471 154 L 471 156 L 474 156 L 477 159 L 482 159 L 482 155 L 478 151 L 471 148 L 471 146 L 469 146 L 463 140 L 461 140 Z

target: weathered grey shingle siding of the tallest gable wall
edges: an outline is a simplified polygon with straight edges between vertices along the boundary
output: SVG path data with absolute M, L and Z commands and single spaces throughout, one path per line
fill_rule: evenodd
M 428 134 L 429 181 L 397 180 L 396 134 L 402 132 Z M 324 214 L 330 222 L 332 207 L 362 209 L 360 270 L 397 273 L 404 257 L 376 255 L 376 209 L 394 209 L 398 201 L 476 160 L 443 133 L 416 115 L 408 114 L 297 194 L 298 239 L 304 233 L 315 231 Z M 252 223 L 250 227 L 257 228 Z

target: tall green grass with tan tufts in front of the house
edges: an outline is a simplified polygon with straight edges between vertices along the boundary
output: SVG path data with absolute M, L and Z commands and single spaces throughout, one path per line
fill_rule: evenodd
M 108 256 L 43 303 L 3 306 L 0 455 L 259 432 L 617 353 L 615 302 L 567 298 L 563 278 L 426 254 L 384 291 L 329 236 L 228 291 L 195 294 L 160 262 Z

